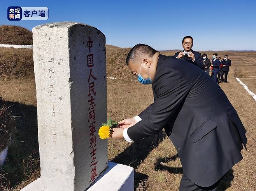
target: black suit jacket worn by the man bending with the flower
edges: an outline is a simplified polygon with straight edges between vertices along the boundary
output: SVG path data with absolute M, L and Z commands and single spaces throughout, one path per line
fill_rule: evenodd
M 242 160 L 245 128 L 223 90 L 206 72 L 184 60 L 160 55 L 152 88 L 154 103 L 127 131 L 133 141 L 165 128 L 184 173 L 203 187 L 214 184 Z

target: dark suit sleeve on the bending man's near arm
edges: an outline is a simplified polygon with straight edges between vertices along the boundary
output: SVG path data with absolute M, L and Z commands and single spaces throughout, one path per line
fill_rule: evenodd
M 140 122 L 127 130 L 133 141 L 157 134 L 166 126 L 168 120 L 179 111 L 188 95 L 190 85 L 179 72 L 172 69 L 159 71 L 161 77 L 154 87 L 155 100 L 151 112 Z

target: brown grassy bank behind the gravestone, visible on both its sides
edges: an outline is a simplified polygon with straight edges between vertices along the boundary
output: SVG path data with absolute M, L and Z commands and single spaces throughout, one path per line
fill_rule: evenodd
M 134 78 L 125 64 L 129 48 L 106 45 L 107 76 Z M 0 47 L 0 79 L 34 79 L 33 50 Z

